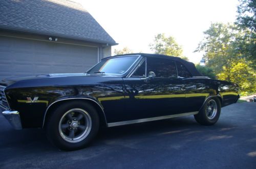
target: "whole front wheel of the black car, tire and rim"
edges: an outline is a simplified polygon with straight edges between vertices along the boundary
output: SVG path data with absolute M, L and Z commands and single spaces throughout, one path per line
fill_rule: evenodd
M 62 128 L 66 125 L 69 126 Z M 59 105 L 51 112 L 46 123 L 46 135 L 50 142 L 66 151 L 88 146 L 98 130 L 99 117 L 96 109 L 83 101 L 71 101 Z M 76 134 L 77 136 L 75 136 Z

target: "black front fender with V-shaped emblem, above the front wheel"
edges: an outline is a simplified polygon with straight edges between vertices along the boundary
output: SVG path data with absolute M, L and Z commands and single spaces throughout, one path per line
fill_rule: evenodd
M 19 111 L 23 128 L 42 127 L 48 109 L 56 102 L 63 100 L 90 100 L 95 102 L 103 111 L 99 94 L 103 97 L 108 93 L 104 89 L 90 86 L 18 88 L 9 89 L 5 92 L 10 108 Z

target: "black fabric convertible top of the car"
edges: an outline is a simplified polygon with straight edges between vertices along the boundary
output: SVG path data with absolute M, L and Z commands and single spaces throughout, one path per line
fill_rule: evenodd
M 198 70 L 196 69 L 194 63 L 185 61 L 179 57 L 172 57 L 172 56 L 163 55 L 163 54 L 149 54 L 149 53 L 120 54 L 120 55 L 115 55 L 114 57 L 121 57 L 121 56 L 127 56 L 127 55 L 141 55 L 144 57 L 157 57 L 157 58 L 170 59 L 170 60 L 182 63 L 187 68 L 187 70 L 191 73 L 192 76 L 202 76 L 202 74 L 199 73 Z M 103 58 L 102 60 L 109 59 L 109 58 L 112 58 L 112 57 Z

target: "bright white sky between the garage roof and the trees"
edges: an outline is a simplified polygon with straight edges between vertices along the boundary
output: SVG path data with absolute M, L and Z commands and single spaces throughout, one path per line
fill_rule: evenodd
M 199 63 L 203 52 L 194 52 L 212 22 L 234 22 L 237 0 L 73 0 L 80 3 L 119 43 L 133 52 L 153 53 L 148 46 L 157 34 L 173 36 L 190 62 Z

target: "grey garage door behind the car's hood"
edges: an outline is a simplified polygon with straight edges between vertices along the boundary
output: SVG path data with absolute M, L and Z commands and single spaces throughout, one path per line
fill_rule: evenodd
M 48 73 L 81 73 L 97 61 L 97 47 L 0 36 L 0 79 Z

